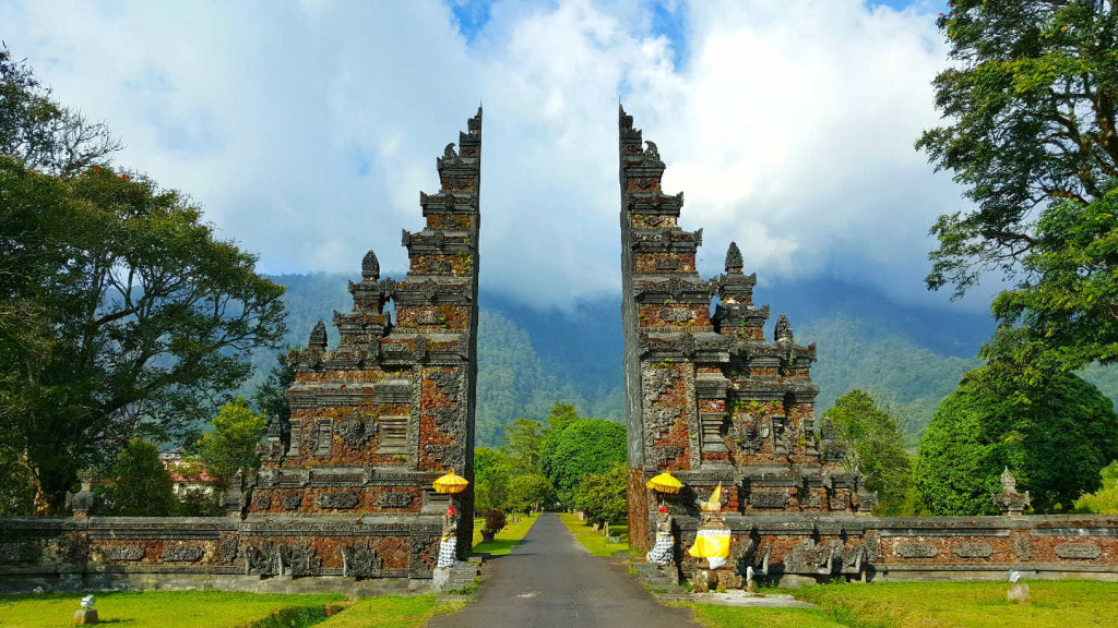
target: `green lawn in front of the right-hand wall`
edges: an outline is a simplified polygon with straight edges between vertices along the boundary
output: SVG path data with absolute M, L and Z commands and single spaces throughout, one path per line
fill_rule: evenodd
M 709 628 L 1061 628 L 1118 626 L 1118 583 L 1030 582 L 1032 605 L 1010 603 L 1006 582 L 878 582 L 790 589 L 819 609 L 760 609 L 697 605 Z

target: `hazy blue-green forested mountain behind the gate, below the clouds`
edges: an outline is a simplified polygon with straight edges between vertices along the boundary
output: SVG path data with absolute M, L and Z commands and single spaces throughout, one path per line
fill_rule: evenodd
M 351 306 L 342 274 L 278 275 L 287 286 L 287 339 L 305 344 L 314 322 Z M 758 304 L 773 318 L 786 313 L 796 342 L 816 343 L 819 384 L 817 415 L 852 388 L 890 397 L 912 417 L 915 444 L 936 406 L 955 390 L 959 375 L 993 330 L 988 315 L 892 303 L 872 289 L 828 279 L 760 286 Z M 579 302 L 568 312 L 537 311 L 482 292 L 479 320 L 477 441 L 500 444 L 503 426 L 517 417 L 542 419 L 556 401 L 572 403 L 582 416 L 624 420 L 620 299 Z M 771 326 L 771 322 L 770 322 Z M 771 334 L 771 329 L 767 330 Z M 331 330 L 331 341 L 337 333 Z M 256 355 L 263 381 L 274 355 Z M 1118 369 L 1086 373 L 1118 399 Z

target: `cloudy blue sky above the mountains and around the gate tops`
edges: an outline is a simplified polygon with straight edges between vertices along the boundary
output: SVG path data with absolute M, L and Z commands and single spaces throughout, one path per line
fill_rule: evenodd
M 260 268 L 406 265 L 435 156 L 485 103 L 482 282 L 541 307 L 619 289 L 620 96 L 705 228 L 762 283 L 834 276 L 937 303 L 912 150 L 946 65 L 927 1 L 0 1 L 3 39 L 117 161 L 188 192 Z M 959 306 L 958 304 L 953 306 Z M 984 307 L 983 299 L 961 306 Z

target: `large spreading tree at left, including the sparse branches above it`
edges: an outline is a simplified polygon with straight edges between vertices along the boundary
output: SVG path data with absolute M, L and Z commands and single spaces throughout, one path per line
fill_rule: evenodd
M 283 288 L 178 192 L 85 168 L 107 135 L 0 72 L 0 466 L 50 514 L 79 469 L 205 420 L 281 339 Z

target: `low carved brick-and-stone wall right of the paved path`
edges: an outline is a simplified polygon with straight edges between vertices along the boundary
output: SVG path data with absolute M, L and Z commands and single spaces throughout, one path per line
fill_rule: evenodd
M 1084 578 L 1118 581 L 1118 517 L 1107 515 L 862 517 L 727 515 L 731 560 L 717 570 L 740 587 L 746 568 L 783 584 L 852 580 Z M 686 556 L 698 517 L 675 517 L 680 567 L 690 577 L 705 561 Z

